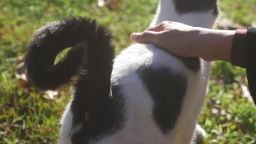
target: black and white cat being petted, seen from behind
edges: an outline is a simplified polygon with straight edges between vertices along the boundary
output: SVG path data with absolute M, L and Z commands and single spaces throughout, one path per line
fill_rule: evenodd
M 169 20 L 211 28 L 217 15 L 216 0 L 161 0 L 150 26 Z M 210 63 L 152 44 L 133 44 L 114 61 L 113 53 L 109 33 L 94 20 L 69 17 L 36 32 L 26 57 L 30 81 L 53 89 L 78 74 L 59 143 L 191 143 Z

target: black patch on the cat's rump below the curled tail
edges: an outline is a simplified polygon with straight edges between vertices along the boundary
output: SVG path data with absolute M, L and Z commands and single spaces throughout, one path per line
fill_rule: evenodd
M 98 103 L 94 103 L 96 110 L 90 110 L 89 104 L 91 97 L 97 95 L 87 95 L 88 88 L 85 86 L 88 82 L 81 79 L 77 83 L 77 91 L 75 91 L 72 101 L 71 110 L 73 113 L 73 127 L 82 124 L 82 128 L 72 135 L 72 143 L 89 143 L 89 141 L 101 140 L 104 136 L 112 135 L 121 128 L 125 117 L 123 95 L 120 92 L 121 87 L 113 85 L 112 95 L 99 99 Z M 95 89 L 100 91 L 100 89 Z M 108 98 L 108 99 L 106 99 Z M 85 113 L 88 117 L 85 118 Z

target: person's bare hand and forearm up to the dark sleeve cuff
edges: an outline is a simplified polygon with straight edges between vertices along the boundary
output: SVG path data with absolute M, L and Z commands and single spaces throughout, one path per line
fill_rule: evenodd
M 192 27 L 164 21 L 142 33 L 132 33 L 136 43 L 154 44 L 183 57 L 201 57 L 205 61 L 231 62 L 232 39 L 236 31 Z

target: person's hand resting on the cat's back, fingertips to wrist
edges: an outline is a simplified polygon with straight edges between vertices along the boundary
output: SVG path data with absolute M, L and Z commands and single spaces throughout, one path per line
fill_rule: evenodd
M 137 43 L 151 43 L 174 55 L 198 56 L 195 52 L 199 31 L 183 23 L 164 21 L 142 33 L 132 33 L 131 39 Z

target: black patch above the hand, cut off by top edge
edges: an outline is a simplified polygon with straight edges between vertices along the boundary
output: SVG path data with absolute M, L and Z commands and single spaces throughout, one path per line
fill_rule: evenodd
M 174 0 L 175 9 L 178 13 L 201 12 L 216 10 L 216 0 Z M 213 12 L 213 13 L 216 13 Z

